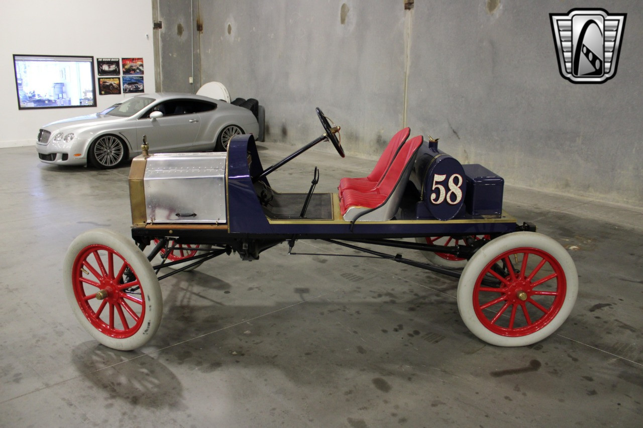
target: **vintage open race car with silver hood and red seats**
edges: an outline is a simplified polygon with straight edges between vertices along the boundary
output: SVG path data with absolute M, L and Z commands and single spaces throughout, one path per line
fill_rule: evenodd
M 578 289 L 568 252 L 502 210 L 502 177 L 461 165 L 436 139 L 401 130 L 371 174 L 341 179 L 337 193 L 314 192 L 317 168 L 307 193 L 271 186 L 272 172 L 321 141 L 344 156 L 340 127 L 317 114 L 324 133 L 268 167 L 248 134 L 219 153 L 150 155 L 144 144 L 129 175 L 133 242 L 87 231 L 64 260 L 66 294 L 84 328 L 105 346 L 138 348 L 161 323 L 159 280 L 224 254 L 257 260 L 282 242 L 291 253 L 301 239 L 459 278 L 460 315 L 487 343 L 524 346 L 561 326 Z M 438 263 L 379 247 L 439 254 Z M 159 274 L 163 267 L 174 270 Z

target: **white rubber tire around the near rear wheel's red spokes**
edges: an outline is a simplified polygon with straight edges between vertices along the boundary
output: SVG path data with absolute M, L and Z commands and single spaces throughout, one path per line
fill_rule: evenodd
M 538 320 L 534 322 L 534 326 L 531 328 L 535 331 L 525 331 L 525 334 L 518 333 L 518 335 L 514 336 L 509 335 L 509 332 L 498 334 L 498 332 L 493 332 L 489 329 L 489 322 L 484 323 L 476 314 L 474 303 L 476 283 L 482 279 L 487 265 L 493 262 L 495 258 L 512 249 L 521 248 L 529 249 L 529 251 L 536 249 L 547 253 L 558 263 L 561 269 L 561 280 L 564 280 L 565 284 L 565 295 L 556 300 L 557 312 L 556 310 L 550 310 L 551 316 L 543 316 L 542 325 L 539 325 Z M 517 281 L 516 284 L 518 284 Z M 556 282 L 556 284 L 559 283 Z M 526 288 L 529 289 L 529 287 Z M 497 346 L 526 346 L 545 339 L 563 324 L 574 307 L 577 293 L 578 274 L 576 267 L 571 256 L 562 245 L 552 238 L 539 233 L 515 232 L 491 240 L 471 257 L 469 263 L 464 267 L 458 283 L 458 310 L 464 324 L 479 339 Z M 510 296 L 510 293 L 507 292 L 506 296 Z M 518 303 L 520 304 L 520 302 Z M 554 307 L 553 303 L 552 307 Z M 550 319 L 547 321 L 545 318 L 549 317 Z M 485 318 L 485 321 L 488 320 Z M 493 322 L 491 326 L 493 327 Z M 496 330 L 502 330 L 502 328 L 496 328 Z

